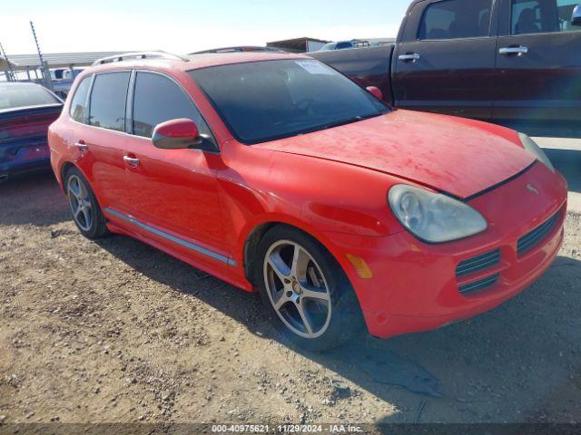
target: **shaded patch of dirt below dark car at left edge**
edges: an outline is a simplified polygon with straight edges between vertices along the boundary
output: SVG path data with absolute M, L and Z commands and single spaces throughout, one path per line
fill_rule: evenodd
M 0 183 L 0 225 L 47 227 L 70 219 L 66 199 L 51 171 Z

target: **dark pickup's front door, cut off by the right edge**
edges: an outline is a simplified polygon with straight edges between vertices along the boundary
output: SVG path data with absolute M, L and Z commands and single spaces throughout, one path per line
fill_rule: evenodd
M 580 1 L 503 0 L 495 120 L 578 127 L 581 26 L 571 24 L 571 15 Z

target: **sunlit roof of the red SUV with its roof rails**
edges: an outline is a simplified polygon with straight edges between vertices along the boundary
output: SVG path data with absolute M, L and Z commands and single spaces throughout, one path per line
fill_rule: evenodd
M 211 66 L 228 65 L 233 63 L 249 63 L 262 61 L 277 61 L 289 59 L 310 59 L 309 56 L 294 53 L 263 53 L 263 52 L 242 52 L 242 53 L 202 53 L 185 56 L 187 61 L 149 58 L 149 59 L 128 59 L 122 62 L 103 63 L 85 70 L 85 73 L 97 73 L 111 70 L 127 70 L 140 67 L 162 67 L 163 69 L 173 69 L 180 71 L 198 70 Z

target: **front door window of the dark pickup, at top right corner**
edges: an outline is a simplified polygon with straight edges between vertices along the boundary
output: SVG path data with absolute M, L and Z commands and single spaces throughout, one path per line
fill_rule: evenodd
M 511 34 L 579 31 L 581 27 L 571 24 L 571 15 L 578 2 L 579 0 L 512 0 Z

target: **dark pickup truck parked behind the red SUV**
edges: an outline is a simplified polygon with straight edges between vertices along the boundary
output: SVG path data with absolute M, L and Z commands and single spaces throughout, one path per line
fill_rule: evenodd
M 403 109 L 581 137 L 580 0 L 414 0 L 397 43 L 310 53 Z

